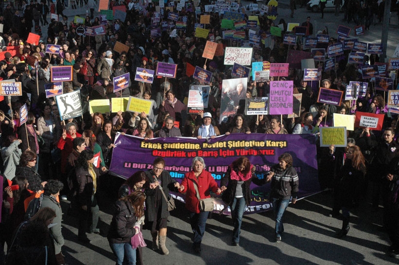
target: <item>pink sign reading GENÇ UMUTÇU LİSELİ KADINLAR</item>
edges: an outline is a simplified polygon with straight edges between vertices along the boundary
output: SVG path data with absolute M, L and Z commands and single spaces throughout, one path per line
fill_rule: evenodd
M 270 82 L 270 114 L 292 114 L 293 81 Z

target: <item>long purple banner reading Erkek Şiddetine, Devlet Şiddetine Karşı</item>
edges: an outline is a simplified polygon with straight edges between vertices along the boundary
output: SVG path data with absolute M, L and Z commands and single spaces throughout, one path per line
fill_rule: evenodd
M 320 191 L 317 175 L 316 138 L 313 135 L 283 134 L 230 134 L 210 141 L 192 138 L 169 137 L 144 140 L 142 138 L 117 135 L 112 152 L 110 174 L 127 179 L 139 170 L 150 170 L 153 161 L 162 157 L 165 160 L 163 170 L 168 171 L 176 181 L 181 183 L 184 174 L 191 171 L 192 159 L 200 156 L 205 160 L 206 168 L 215 178 L 218 185 L 224 176 L 227 166 L 242 156 L 248 157 L 254 165 L 255 174 L 264 179 L 270 167 L 278 163 L 278 157 L 290 153 L 292 166 L 296 169 L 301 181 L 298 198 L 303 198 Z M 251 205 L 245 214 L 271 210 L 269 201 L 270 185 L 256 186 L 251 184 Z M 172 193 L 175 199 L 185 201 L 184 194 Z M 215 199 L 215 212 L 223 211 L 225 205 L 220 195 Z

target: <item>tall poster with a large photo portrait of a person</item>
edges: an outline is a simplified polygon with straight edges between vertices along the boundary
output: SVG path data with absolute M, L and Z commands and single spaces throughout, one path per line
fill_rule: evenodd
M 244 113 L 248 78 L 225 79 L 222 83 L 219 123 Z

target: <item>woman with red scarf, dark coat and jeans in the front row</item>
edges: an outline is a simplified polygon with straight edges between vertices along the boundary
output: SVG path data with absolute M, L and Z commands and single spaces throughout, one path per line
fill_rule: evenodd
M 226 174 L 220 181 L 220 190 L 223 192 L 222 200 L 230 206 L 231 216 L 234 222 L 232 246 L 238 246 L 240 240 L 240 228 L 245 206 L 251 203 L 251 182 L 258 186 L 266 183 L 265 179 L 256 177 L 255 167 L 248 158 L 236 159 L 227 168 Z

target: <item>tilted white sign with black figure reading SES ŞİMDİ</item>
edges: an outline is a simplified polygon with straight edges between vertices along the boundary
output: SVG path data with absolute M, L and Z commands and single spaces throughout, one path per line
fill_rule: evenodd
M 80 102 L 80 90 L 55 96 L 61 121 L 81 116 L 83 114 Z

